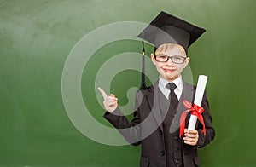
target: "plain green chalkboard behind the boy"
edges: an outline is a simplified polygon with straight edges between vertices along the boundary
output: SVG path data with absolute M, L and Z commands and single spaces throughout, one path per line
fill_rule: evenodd
M 255 5 L 253 0 L 0 0 L 0 166 L 138 166 L 140 147 L 113 146 L 122 141 L 115 141 L 120 139 L 116 131 L 108 133 L 113 127 L 102 118 L 96 87 L 118 95 L 131 118 L 140 84 L 136 69 L 141 43 L 124 27 L 136 22 L 132 27 L 139 30 L 160 10 L 207 29 L 189 49 L 190 66 L 184 74 L 190 75 L 190 83 L 200 74 L 209 77 L 216 139 L 200 149 L 201 166 L 254 166 Z M 120 22 L 113 33 L 111 28 Z M 96 30 L 108 33 L 102 36 Z M 79 45 L 91 33 L 96 35 L 90 43 Z M 117 34 L 124 37 L 100 46 L 102 38 Z M 147 44 L 148 58 L 152 51 Z M 116 55 L 131 57 L 121 58 L 113 68 Z M 69 60 L 72 66 L 66 69 Z M 146 64 L 150 84 L 158 76 L 150 60 Z M 78 81 L 71 87 L 76 89 L 67 90 L 73 81 Z M 87 109 L 85 118 L 79 105 L 73 105 L 79 102 L 76 95 Z M 106 131 L 100 134 L 93 120 Z

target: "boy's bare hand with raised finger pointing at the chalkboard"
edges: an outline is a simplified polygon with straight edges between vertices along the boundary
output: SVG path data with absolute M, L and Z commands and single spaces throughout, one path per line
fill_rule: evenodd
M 104 99 L 103 105 L 105 107 L 105 110 L 107 110 L 108 112 L 113 112 L 118 107 L 118 98 L 116 98 L 113 94 L 107 95 L 106 92 L 100 87 L 98 88 L 98 90 L 100 91 Z

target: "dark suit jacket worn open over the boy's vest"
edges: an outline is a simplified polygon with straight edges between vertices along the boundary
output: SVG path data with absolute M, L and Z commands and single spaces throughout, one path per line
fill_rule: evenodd
M 106 112 L 103 116 L 119 130 L 126 141 L 135 146 L 142 144 L 140 166 L 166 166 L 166 157 L 163 154 L 165 142 L 162 135 L 163 118 L 160 115 L 159 91 L 158 82 L 148 87 L 148 89 L 137 91 L 135 112 L 133 112 L 134 118 L 131 122 L 122 114 L 119 107 L 112 113 Z M 170 133 L 179 130 L 180 115 L 185 110 L 181 100 L 193 101 L 194 95 L 195 86 L 183 81 L 183 95 L 172 120 Z M 206 93 L 203 96 L 201 107 L 205 109 L 202 116 L 206 125 L 207 135 L 201 134 L 202 125 L 197 122 L 195 129 L 199 131 L 199 140 L 196 146 L 182 144 L 184 166 L 199 166 L 197 148 L 206 146 L 215 136 Z M 190 114 L 186 118 L 186 124 L 189 122 L 189 117 Z

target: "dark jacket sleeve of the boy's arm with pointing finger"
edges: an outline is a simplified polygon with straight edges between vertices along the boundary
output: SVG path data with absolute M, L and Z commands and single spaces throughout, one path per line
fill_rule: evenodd
M 134 118 L 129 121 L 125 115 L 121 112 L 119 107 L 117 107 L 113 112 L 105 112 L 104 118 L 108 120 L 113 126 L 119 130 L 119 133 L 124 136 L 125 140 L 130 144 L 137 146 L 141 142 L 141 119 L 139 112 L 139 103 L 141 101 L 142 95 L 140 91 L 137 91 L 135 96 L 135 111 L 133 112 Z

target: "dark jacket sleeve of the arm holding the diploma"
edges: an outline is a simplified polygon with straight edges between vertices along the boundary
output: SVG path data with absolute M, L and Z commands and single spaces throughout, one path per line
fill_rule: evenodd
M 212 126 L 212 116 L 210 113 L 210 107 L 209 107 L 209 101 L 207 100 L 207 94 L 205 92 L 203 99 L 201 101 L 201 107 L 203 107 L 205 110 L 202 113 L 202 116 L 204 118 L 204 123 L 206 126 L 207 133 L 204 135 L 201 133 L 202 131 L 202 124 L 199 122 L 198 123 L 198 132 L 199 132 L 199 139 L 197 141 L 196 147 L 205 147 L 207 144 L 209 144 L 215 137 L 215 130 L 213 129 Z

